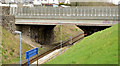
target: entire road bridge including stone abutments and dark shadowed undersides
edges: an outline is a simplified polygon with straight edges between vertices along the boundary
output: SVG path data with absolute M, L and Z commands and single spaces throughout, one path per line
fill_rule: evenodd
M 118 6 L 10 7 L 2 14 L 4 28 L 19 30 L 40 44 L 52 44 L 58 24 L 77 25 L 90 35 L 118 23 Z

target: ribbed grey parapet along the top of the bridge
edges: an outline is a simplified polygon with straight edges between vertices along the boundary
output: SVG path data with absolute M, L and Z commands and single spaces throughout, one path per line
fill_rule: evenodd
M 10 14 L 16 18 L 117 20 L 118 6 L 12 7 Z

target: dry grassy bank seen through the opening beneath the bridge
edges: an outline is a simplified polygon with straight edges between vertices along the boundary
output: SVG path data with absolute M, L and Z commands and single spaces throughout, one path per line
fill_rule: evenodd
M 83 32 L 80 28 L 76 25 L 63 25 L 62 26 L 62 40 L 65 41 L 69 39 L 71 36 L 76 36 L 80 32 Z M 54 28 L 54 43 L 61 41 L 61 26 L 57 25 Z

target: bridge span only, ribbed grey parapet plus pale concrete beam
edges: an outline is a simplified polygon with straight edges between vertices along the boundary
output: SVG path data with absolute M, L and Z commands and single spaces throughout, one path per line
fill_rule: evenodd
M 15 24 L 111 26 L 118 23 L 118 6 L 12 7 Z

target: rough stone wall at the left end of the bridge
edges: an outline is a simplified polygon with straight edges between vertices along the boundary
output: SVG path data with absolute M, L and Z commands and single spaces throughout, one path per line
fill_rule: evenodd
M 11 33 L 16 29 L 15 17 L 10 15 L 10 7 L 2 7 L 2 26 Z

